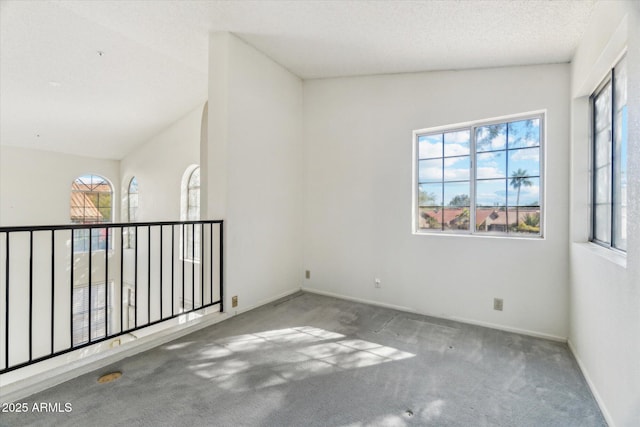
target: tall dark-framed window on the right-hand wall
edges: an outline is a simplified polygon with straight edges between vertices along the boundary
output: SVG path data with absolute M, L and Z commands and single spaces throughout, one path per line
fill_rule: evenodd
M 591 240 L 627 250 L 627 62 L 623 57 L 591 96 Z

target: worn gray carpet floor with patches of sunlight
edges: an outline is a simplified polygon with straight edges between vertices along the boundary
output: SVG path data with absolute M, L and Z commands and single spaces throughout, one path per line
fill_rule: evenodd
M 100 374 L 123 376 L 98 384 Z M 7 426 L 604 426 L 567 346 L 298 293 L 26 399 Z

